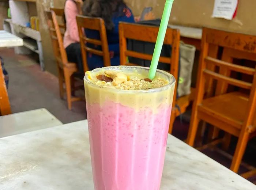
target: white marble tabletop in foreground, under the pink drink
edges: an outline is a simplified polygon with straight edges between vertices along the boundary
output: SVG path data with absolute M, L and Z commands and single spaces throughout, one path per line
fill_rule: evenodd
M 256 186 L 169 135 L 161 190 Z M 0 138 L 1 190 L 93 190 L 87 121 Z

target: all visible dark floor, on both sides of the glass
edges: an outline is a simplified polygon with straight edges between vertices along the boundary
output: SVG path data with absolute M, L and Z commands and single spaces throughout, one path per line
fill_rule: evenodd
M 48 72 L 41 72 L 39 64 L 29 56 L 15 55 L 13 49 L 0 49 L 0 55 L 4 58 L 5 68 L 9 72 L 10 83 L 8 94 L 11 102 L 12 113 L 46 108 L 63 123 L 69 123 L 86 119 L 85 102 L 75 102 L 72 110 L 67 109 L 66 100 L 60 99 L 58 79 Z M 173 135 L 181 140 L 187 136 L 189 123 L 185 115 L 183 122 L 176 119 Z M 228 153 L 231 155 L 236 147 L 237 138 L 232 138 Z M 212 159 L 226 167 L 230 167 L 231 160 L 216 150 L 206 149 L 202 151 Z M 256 141 L 251 140 L 247 146 L 243 161 L 256 167 Z M 246 172 L 241 166 L 239 173 Z M 252 177 L 256 182 L 256 176 Z

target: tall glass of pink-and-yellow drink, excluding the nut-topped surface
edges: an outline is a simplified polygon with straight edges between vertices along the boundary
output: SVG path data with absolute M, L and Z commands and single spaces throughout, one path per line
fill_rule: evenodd
M 139 66 L 103 69 L 148 72 Z M 160 188 L 175 79 L 163 71 L 157 71 L 157 77 L 169 84 L 118 90 L 91 83 L 88 73 L 84 77 L 95 190 Z

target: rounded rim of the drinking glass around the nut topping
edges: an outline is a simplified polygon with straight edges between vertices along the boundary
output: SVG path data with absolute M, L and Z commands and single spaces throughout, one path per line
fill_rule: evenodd
M 110 68 L 139 68 L 139 69 L 146 69 L 149 71 L 149 67 L 145 67 L 145 66 L 126 66 L 126 65 L 118 65 L 118 66 L 106 66 L 106 67 L 100 67 L 100 68 L 96 68 L 96 69 L 93 69 L 92 71 L 89 71 L 89 72 L 97 72 L 97 71 L 100 71 L 102 69 L 106 69 L 106 70 L 110 70 Z M 115 69 L 116 71 L 118 71 L 118 69 Z M 166 75 L 169 77 L 170 80 L 170 83 L 166 84 L 165 86 L 162 86 L 162 87 L 159 87 L 159 88 L 151 88 L 151 89 L 147 89 L 147 90 L 121 90 L 121 89 L 116 89 L 116 88 L 105 88 L 105 89 L 108 89 L 110 91 L 114 91 L 114 92 L 124 92 L 124 93 L 149 93 L 149 92 L 158 92 L 158 91 L 163 91 L 163 90 L 167 90 L 169 88 L 171 88 L 173 86 L 173 84 L 176 82 L 176 79 L 175 77 L 166 72 L 166 71 L 163 71 L 163 70 L 160 70 L 160 69 L 157 69 L 157 72 L 158 73 L 162 73 L 163 75 Z M 91 86 L 94 86 L 96 88 L 102 88 L 100 86 L 98 86 L 97 84 L 94 84 L 90 81 L 90 79 L 88 78 L 88 74 L 85 73 L 84 75 L 84 78 L 83 78 L 84 82 L 86 82 L 87 84 L 91 85 Z

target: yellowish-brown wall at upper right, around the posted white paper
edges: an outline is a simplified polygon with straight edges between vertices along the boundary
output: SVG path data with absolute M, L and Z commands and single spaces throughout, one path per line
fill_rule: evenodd
M 153 7 L 161 18 L 165 0 L 125 0 L 134 15 L 140 15 L 144 7 Z M 214 0 L 174 0 L 170 23 L 195 27 L 215 27 L 256 35 L 256 0 L 240 0 L 237 17 L 233 20 L 212 18 Z

